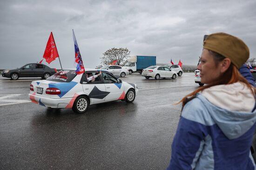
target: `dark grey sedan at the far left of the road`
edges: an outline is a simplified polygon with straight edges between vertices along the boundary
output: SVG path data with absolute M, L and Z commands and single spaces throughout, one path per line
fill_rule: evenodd
M 42 77 L 47 79 L 57 72 L 47 65 L 41 63 L 29 63 L 17 69 L 6 69 L 2 72 L 3 77 L 18 80 L 19 77 Z

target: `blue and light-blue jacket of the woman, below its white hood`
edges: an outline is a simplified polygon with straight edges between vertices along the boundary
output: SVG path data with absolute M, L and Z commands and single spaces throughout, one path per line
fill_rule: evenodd
M 202 94 L 182 111 L 168 170 L 256 170 L 250 153 L 256 111 L 228 111 Z

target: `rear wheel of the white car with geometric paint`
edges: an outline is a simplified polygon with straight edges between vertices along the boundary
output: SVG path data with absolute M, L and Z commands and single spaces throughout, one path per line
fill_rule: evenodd
M 79 96 L 75 99 L 72 110 L 75 113 L 85 113 L 89 107 L 89 102 L 87 97 Z

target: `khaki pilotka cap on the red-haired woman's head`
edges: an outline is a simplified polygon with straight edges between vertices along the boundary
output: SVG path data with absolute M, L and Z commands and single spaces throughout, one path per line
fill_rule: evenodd
M 222 32 L 210 34 L 203 42 L 203 48 L 229 58 L 238 69 L 249 58 L 249 48 L 241 39 Z

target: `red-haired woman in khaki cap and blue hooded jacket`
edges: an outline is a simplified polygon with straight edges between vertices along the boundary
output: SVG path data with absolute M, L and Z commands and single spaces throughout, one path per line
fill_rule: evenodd
M 204 41 L 201 82 L 182 99 L 182 116 L 168 170 L 255 170 L 250 146 L 256 89 L 239 73 L 249 49 L 239 38 L 215 33 Z

